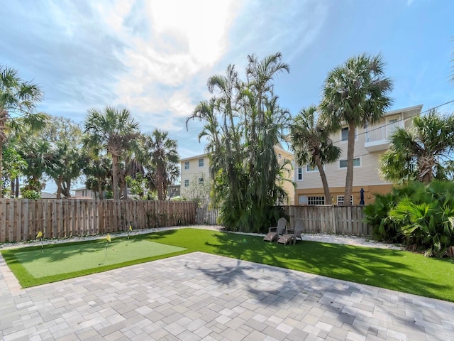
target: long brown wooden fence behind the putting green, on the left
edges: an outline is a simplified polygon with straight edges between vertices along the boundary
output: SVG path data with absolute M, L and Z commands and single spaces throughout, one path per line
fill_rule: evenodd
M 195 224 L 194 202 L 0 199 L 0 242 Z

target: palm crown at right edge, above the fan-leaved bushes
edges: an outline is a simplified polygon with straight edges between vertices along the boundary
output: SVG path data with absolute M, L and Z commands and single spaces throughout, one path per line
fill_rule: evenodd
M 454 150 L 454 116 L 442 117 L 435 110 L 413 118 L 411 129 L 397 129 L 380 160 L 380 173 L 387 180 L 418 180 L 430 183 L 445 178 Z M 449 169 L 448 169 L 449 171 Z

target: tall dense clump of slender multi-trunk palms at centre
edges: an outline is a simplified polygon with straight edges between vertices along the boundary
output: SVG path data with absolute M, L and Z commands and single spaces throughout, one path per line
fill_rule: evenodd
M 207 141 L 213 201 L 228 229 L 260 231 L 270 224 L 271 207 L 286 198 L 279 181 L 288 163 L 279 164 L 275 146 L 284 140 L 289 112 L 279 107 L 272 81 L 288 71 L 280 53 L 262 60 L 249 55 L 245 81 L 228 65 L 225 75 L 209 78 L 213 97 L 187 120 L 204 121 L 199 139 Z

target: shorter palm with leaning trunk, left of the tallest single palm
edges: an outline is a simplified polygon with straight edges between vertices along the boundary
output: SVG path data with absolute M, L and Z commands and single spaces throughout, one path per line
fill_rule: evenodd
M 291 125 L 292 150 L 299 165 L 309 164 L 319 168 L 321 183 L 325 192 L 326 205 L 332 205 L 328 181 L 323 165 L 338 160 L 341 148 L 333 146 L 328 131 L 317 122 L 317 107 L 311 106 L 299 111 Z

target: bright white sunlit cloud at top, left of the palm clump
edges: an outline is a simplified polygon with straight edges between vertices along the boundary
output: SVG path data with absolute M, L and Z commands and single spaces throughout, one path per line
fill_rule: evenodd
M 188 91 L 228 48 L 228 31 L 238 5 L 233 1 L 128 1 L 96 4 L 104 26 L 126 46 L 118 58 L 123 72 L 116 104 L 132 112 L 166 112 L 166 124 L 192 112 Z M 197 79 L 197 77 L 196 77 Z M 196 92 L 198 92 L 196 90 Z M 170 119 L 172 118 L 172 119 Z

